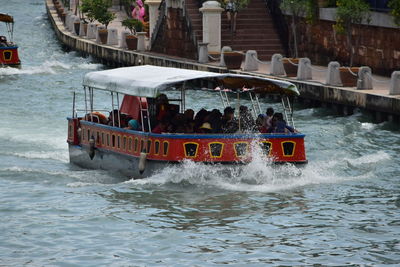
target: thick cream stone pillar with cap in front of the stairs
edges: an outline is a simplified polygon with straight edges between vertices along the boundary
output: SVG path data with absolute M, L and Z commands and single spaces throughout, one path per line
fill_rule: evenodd
M 207 1 L 199 9 L 203 13 L 203 43 L 208 43 L 208 52 L 221 50 L 221 13 L 224 11 L 217 1 Z

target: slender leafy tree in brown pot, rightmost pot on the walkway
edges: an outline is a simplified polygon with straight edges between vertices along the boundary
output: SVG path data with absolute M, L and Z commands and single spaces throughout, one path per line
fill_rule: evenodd
M 353 67 L 354 51 L 358 51 L 358 40 L 353 44 L 353 30 L 355 24 L 370 21 L 369 5 L 363 0 L 337 0 L 336 24 L 333 26 L 338 34 L 345 34 L 349 54 L 349 66 L 340 67 L 340 78 L 343 86 L 357 86 L 357 67 Z M 354 49 L 353 49 L 354 45 Z

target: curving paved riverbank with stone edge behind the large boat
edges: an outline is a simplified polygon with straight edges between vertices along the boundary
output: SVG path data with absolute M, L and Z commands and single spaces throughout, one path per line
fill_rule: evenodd
M 324 70 L 322 67 L 318 67 L 319 70 L 313 71 L 313 80 L 298 81 L 296 79 L 268 75 L 268 64 L 260 64 L 260 69 L 258 71 L 245 72 L 240 70 L 227 70 L 226 68 L 219 67 L 217 62 L 200 64 L 193 60 L 170 57 L 152 52 L 133 52 L 117 46 L 101 45 L 96 43 L 94 39 L 86 39 L 73 34 L 64 27 L 64 24 L 57 16 L 53 2 L 51 0 L 46 0 L 46 6 L 54 31 L 58 39 L 65 46 L 85 54 L 90 54 L 110 66 L 118 67 L 150 64 L 220 73 L 229 71 L 232 73 L 282 79 L 296 84 L 301 92 L 301 97 L 305 99 L 346 107 L 345 110 L 351 110 L 355 107 L 370 110 L 378 114 L 378 119 L 385 117 L 382 116 L 382 114 L 395 115 L 396 117 L 400 115 L 400 96 L 389 95 L 389 79 L 384 77 L 377 77 L 374 75 L 375 79 L 383 82 L 374 84 L 373 90 L 356 90 L 355 88 L 325 85 L 323 71 L 320 71 Z M 113 27 L 122 29 L 118 21 L 114 22 Z

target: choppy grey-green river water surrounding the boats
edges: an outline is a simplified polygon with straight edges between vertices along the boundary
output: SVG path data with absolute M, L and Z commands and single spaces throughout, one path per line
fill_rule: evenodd
M 399 128 L 359 112 L 299 106 L 310 161 L 302 169 L 186 162 L 120 182 L 71 166 L 72 92 L 103 66 L 62 50 L 43 2 L 0 0 L 17 21 L 23 61 L 0 69 L 0 265 L 400 262 Z M 195 107 L 211 108 L 210 98 L 197 96 Z

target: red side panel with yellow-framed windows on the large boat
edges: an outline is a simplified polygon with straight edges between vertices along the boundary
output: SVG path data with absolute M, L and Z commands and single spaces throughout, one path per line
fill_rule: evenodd
M 96 148 L 134 157 L 146 152 L 148 159 L 156 161 L 248 162 L 254 150 L 258 149 L 262 156 L 274 162 L 307 162 L 304 135 L 148 134 L 87 121 L 80 122 L 78 134 L 74 130 L 77 124 L 76 119 L 69 120 L 70 144 L 89 146 L 93 137 Z

